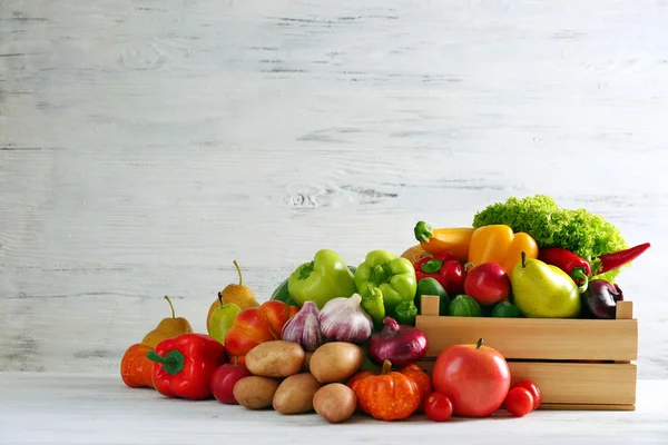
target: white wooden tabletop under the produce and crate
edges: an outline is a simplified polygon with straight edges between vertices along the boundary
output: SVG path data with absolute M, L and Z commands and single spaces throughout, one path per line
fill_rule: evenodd
M 216 400 L 166 398 L 116 375 L 0 374 L 2 445 L 77 444 L 666 444 L 668 380 L 639 380 L 636 412 L 538 411 L 433 423 L 250 412 Z

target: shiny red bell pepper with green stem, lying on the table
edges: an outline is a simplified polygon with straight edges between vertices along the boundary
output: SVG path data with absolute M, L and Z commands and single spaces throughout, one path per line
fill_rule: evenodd
M 164 339 L 146 357 L 156 362 L 154 384 L 158 393 L 194 400 L 212 396 L 212 375 L 228 360 L 220 342 L 195 333 Z

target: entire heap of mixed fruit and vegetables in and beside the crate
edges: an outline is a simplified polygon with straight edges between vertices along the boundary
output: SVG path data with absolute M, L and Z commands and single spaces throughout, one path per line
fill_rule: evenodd
M 615 318 L 619 268 L 649 244 L 628 248 L 600 217 L 550 206 L 546 197 L 511 198 L 470 228 L 419 221 L 416 246 L 401 256 L 372 250 L 356 267 L 321 249 L 263 304 L 234 261 L 239 284 L 212 303 L 207 334 L 193 333 L 171 307 L 171 318 L 126 350 L 122 380 L 168 397 L 315 412 L 331 423 L 355 412 L 382 421 L 482 417 L 501 407 L 525 415 L 540 405 L 540 389 L 529 380 L 511 387 L 504 357 L 482 339 L 441 352 L 431 375 L 421 369 L 428 338 L 415 317 L 421 296 L 435 295 L 443 316 Z

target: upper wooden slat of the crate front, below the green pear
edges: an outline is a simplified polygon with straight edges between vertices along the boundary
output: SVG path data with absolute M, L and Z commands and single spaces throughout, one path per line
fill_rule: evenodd
M 505 358 L 637 360 L 636 319 L 547 319 L 434 317 L 419 315 L 415 327 L 429 339 L 428 357 L 450 345 L 484 339 Z

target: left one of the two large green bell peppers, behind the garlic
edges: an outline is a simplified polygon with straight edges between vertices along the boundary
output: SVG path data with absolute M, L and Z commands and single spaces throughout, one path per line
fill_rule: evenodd
M 334 250 L 322 249 L 287 278 L 287 291 L 299 305 L 314 301 L 318 308 L 333 298 L 350 298 L 355 291 L 353 271 Z

